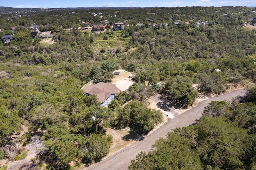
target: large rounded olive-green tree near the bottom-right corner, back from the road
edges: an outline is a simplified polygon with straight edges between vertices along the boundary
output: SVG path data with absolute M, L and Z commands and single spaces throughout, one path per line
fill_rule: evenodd
M 212 168 L 243 168 L 244 142 L 248 138 L 246 130 L 224 117 L 203 116 L 196 124 L 198 131 L 198 154 L 202 162 Z

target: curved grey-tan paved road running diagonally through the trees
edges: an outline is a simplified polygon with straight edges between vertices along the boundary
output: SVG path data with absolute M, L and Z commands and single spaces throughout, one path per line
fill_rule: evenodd
M 173 119 L 169 119 L 167 123 L 162 125 L 156 131 L 151 133 L 142 141 L 138 141 L 133 143 L 132 145 L 125 147 L 124 149 L 114 153 L 113 155 L 107 157 L 100 162 L 93 164 L 86 168 L 86 170 L 128 170 L 128 166 L 130 165 L 130 160 L 135 159 L 136 155 L 141 151 L 147 152 L 151 149 L 151 146 L 154 142 L 160 137 L 165 137 L 165 135 L 175 129 L 176 127 L 185 127 L 192 123 L 195 123 L 197 119 L 200 119 L 202 116 L 202 112 L 204 111 L 204 107 L 208 106 L 208 104 L 212 101 L 222 101 L 222 100 L 230 100 L 236 96 L 243 96 L 245 94 L 245 90 L 235 90 L 228 94 L 224 94 L 221 96 L 216 96 L 209 98 L 208 100 L 204 100 L 199 102 L 196 107 L 180 114 L 175 115 Z

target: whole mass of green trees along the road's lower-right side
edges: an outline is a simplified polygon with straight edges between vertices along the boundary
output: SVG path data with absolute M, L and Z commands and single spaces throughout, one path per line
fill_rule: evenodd
M 174 129 L 152 150 L 131 161 L 130 170 L 253 170 L 256 166 L 256 88 L 243 103 L 213 101 L 195 125 Z

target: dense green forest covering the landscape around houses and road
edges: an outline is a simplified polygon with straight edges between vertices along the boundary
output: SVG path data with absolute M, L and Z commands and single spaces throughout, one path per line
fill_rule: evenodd
M 104 127 L 130 127 L 146 134 L 162 121 L 160 111 L 147 107 L 148 98 L 156 93 L 186 108 L 198 94 L 219 95 L 230 87 L 254 84 L 256 29 L 241 24 L 256 23 L 255 11 L 226 6 L 1 14 L 0 37 L 14 36 L 10 43 L 0 42 L 0 159 L 19 160 L 26 153 L 16 144 L 29 145 L 40 137 L 39 167 L 43 162 L 48 169 L 70 169 L 70 162 L 89 165 L 106 156 L 113 143 Z M 109 25 L 121 21 L 125 29 L 79 29 L 88 27 L 83 22 L 104 20 Z M 52 44 L 32 38 L 34 23 L 40 31 L 53 33 Z M 83 95 L 84 84 L 94 79 L 111 82 L 116 69 L 134 72 L 136 83 L 108 107 L 100 107 L 96 96 Z M 244 100 L 211 103 L 196 125 L 168 133 L 167 139 L 155 143 L 155 150 L 138 155 L 130 169 L 252 170 L 255 88 Z M 95 113 L 97 124 L 104 123 L 98 134 Z M 24 135 L 14 137 L 20 134 Z

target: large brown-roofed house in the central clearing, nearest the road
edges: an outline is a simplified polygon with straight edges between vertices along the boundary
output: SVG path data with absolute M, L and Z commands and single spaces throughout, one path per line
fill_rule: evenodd
M 112 100 L 114 100 L 116 94 L 121 92 L 121 90 L 117 88 L 115 84 L 99 82 L 94 86 L 90 86 L 84 92 L 89 96 L 96 95 L 100 102 L 100 106 L 104 107 L 110 104 Z

